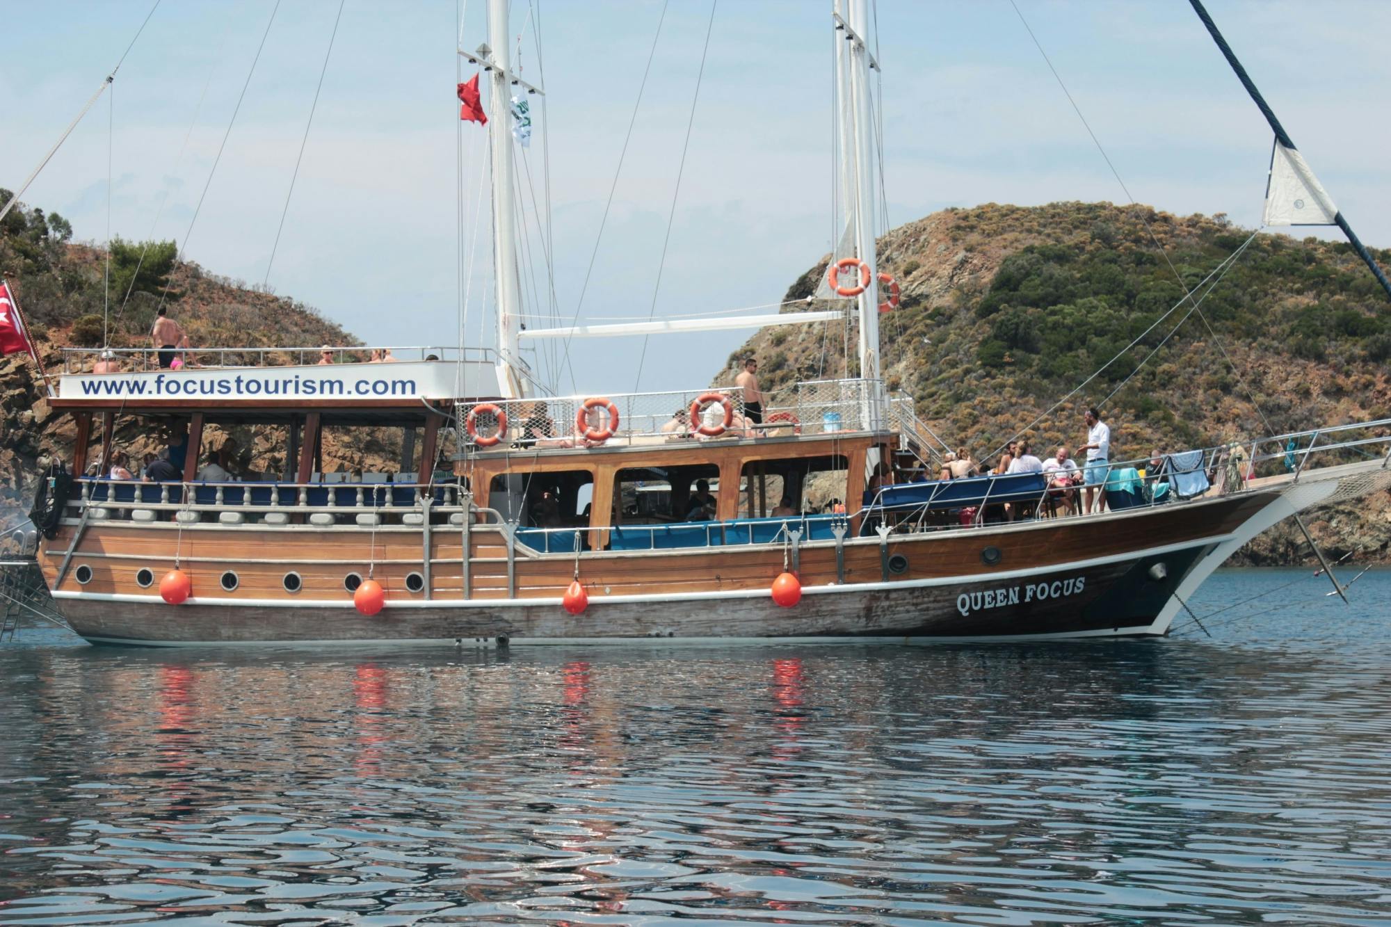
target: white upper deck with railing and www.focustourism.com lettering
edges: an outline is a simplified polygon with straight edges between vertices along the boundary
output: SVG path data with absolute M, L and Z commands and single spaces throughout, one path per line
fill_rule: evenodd
M 54 408 L 380 408 L 501 395 L 491 351 L 466 348 L 188 348 L 181 366 L 159 366 L 147 348 L 65 348 Z M 370 362 L 373 351 L 392 360 Z M 111 363 L 115 370 L 103 370 Z

